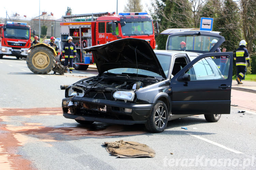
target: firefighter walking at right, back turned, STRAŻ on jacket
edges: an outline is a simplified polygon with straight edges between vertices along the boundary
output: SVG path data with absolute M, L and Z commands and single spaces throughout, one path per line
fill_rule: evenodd
M 246 41 L 243 39 L 239 43 L 239 48 L 236 50 L 236 54 L 234 55 L 234 60 L 236 61 L 237 66 L 237 83 L 243 84 L 241 81 L 246 72 L 246 62 L 248 63 L 248 67 L 250 67 L 250 58 L 246 46 Z

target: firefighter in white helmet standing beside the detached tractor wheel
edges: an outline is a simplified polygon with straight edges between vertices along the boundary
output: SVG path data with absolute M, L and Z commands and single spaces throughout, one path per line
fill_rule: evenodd
M 63 46 L 62 53 L 65 54 L 65 63 L 64 66 L 67 66 L 69 63 L 69 72 L 72 73 L 73 70 L 73 58 L 76 57 L 75 44 L 72 42 L 73 38 L 69 36 L 67 42 Z

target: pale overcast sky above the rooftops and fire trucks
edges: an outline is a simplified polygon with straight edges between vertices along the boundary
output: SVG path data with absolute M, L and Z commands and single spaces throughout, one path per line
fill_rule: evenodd
M 99 12 L 116 12 L 117 0 L 40 0 L 40 13 L 53 13 L 56 19 L 65 15 L 67 7 L 72 9 L 73 14 L 90 14 Z M 123 12 L 128 0 L 118 0 L 118 13 Z M 150 5 L 151 0 L 141 0 L 144 11 L 147 11 L 146 4 Z M 17 13 L 20 18 L 24 15 L 27 19 L 39 16 L 39 0 L 1 0 L 0 17 L 11 17 Z

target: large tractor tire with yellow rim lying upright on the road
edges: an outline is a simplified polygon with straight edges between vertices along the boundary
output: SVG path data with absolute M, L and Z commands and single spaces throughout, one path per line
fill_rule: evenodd
M 54 53 L 47 47 L 32 48 L 27 56 L 27 65 L 35 74 L 47 74 L 54 68 Z

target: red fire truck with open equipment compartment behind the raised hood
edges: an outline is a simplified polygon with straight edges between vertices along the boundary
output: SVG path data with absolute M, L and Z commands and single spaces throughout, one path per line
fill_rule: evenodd
M 61 47 L 63 48 L 68 36 L 73 37 L 77 52 L 73 67 L 76 70 L 86 70 L 89 64 L 94 63 L 92 54 L 81 50 L 86 47 L 128 37 L 145 39 L 153 49 L 156 46 L 153 19 L 146 12 L 68 15 L 62 19 Z M 157 22 L 155 27 L 159 33 Z M 64 57 L 61 61 L 63 63 Z

